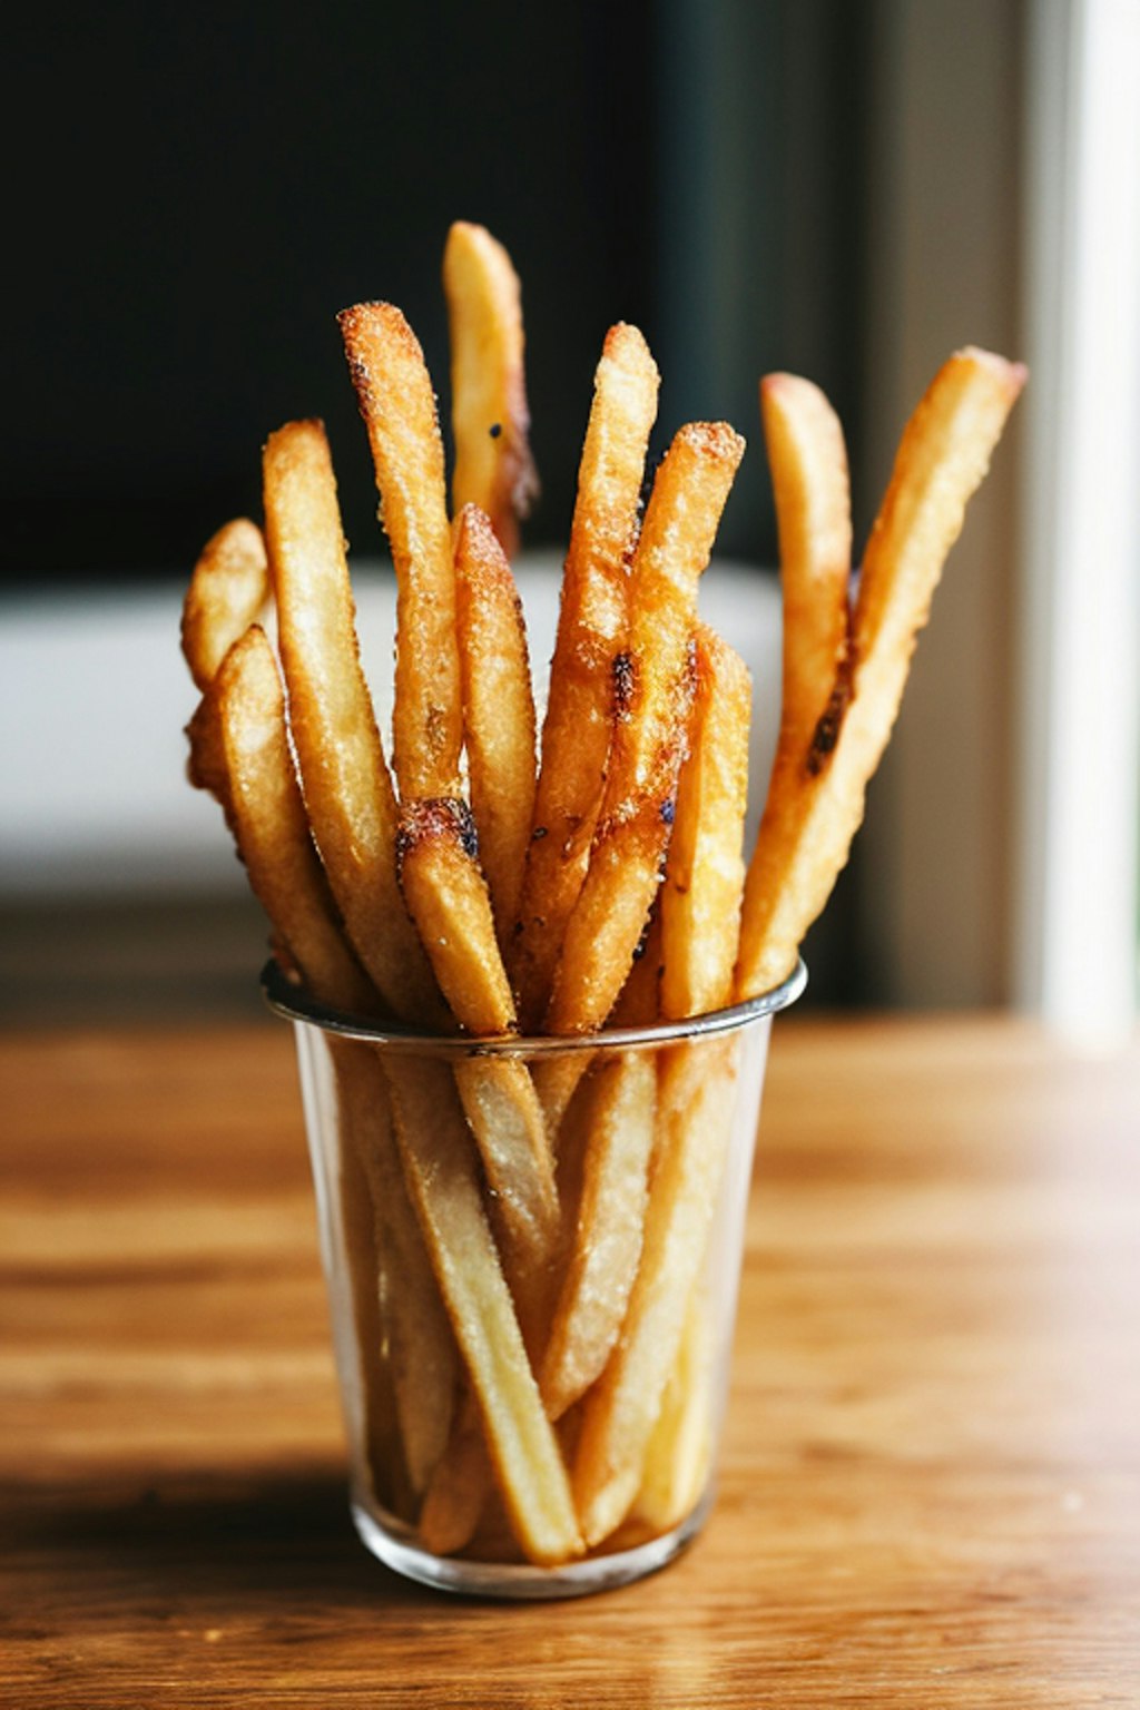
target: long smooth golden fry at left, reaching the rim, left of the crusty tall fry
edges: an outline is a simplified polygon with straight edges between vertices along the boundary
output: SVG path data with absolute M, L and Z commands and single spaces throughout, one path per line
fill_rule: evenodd
M 320 422 L 289 422 L 270 434 L 265 532 L 289 723 L 328 882 L 388 1007 L 407 1021 L 441 1021 L 397 882 L 397 804 L 361 670 L 337 482 Z

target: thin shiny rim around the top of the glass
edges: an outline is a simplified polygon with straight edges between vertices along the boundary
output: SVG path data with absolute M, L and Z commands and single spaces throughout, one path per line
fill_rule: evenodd
M 379 1045 L 390 1052 L 415 1057 L 547 1057 L 564 1052 L 596 1052 L 679 1045 L 694 1038 L 711 1038 L 718 1033 L 735 1033 L 774 1016 L 802 995 L 807 987 L 807 968 L 803 958 L 796 958 L 791 973 L 742 1004 L 730 1004 L 726 1009 L 713 1009 L 704 1016 L 690 1016 L 685 1021 L 653 1021 L 641 1028 L 600 1028 L 595 1033 L 506 1033 L 494 1038 L 475 1038 L 470 1033 L 419 1033 L 414 1028 L 402 1028 L 397 1023 L 379 1021 L 373 1016 L 359 1016 L 330 1004 L 320 1004 L 301 982 L 291 980 L 275 958 L 261 970 L 261 995 L 265 1002 L 284 1021 L 303 1023 L 321 1033 L 332 1033 L 342 1040 L 361 1040 L 367 1045 Z

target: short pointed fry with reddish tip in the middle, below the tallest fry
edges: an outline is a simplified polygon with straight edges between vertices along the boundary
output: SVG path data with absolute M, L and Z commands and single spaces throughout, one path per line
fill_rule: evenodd
M 506 949 L 535 807 L 535 699 L 514 578 L 475 504 L 465 504 L 455 525 L 455 595 L 479 860 Z

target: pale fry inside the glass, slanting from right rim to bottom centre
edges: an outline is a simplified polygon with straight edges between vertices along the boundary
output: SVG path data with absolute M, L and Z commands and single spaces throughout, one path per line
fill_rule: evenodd
M 617 1346 L 581 1404 L 574 1503 L 588 1546 L 626 1518 L 709 1238 L 737 1093 L 733 1038 L 665 1053 L 641 1264 Z

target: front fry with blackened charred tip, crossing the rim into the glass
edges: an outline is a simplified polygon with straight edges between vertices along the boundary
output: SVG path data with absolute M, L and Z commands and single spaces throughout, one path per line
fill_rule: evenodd
M 403 812 L 400 884 L 455 1019 L 479 1038 L 514 1031 L 487 886 L 473 860 L 463 802 L 414 802 Z M 547 1264 L 559 1235 L 554 1159 L 526 1065 L 511 1058 L 456 1064 L 456 1084 L 523 1272 Z

